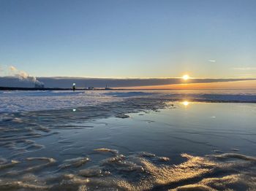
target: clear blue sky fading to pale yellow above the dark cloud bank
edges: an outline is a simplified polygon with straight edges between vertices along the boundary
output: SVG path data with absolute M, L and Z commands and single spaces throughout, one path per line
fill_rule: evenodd
M 37 77 L 256 77 L 255 9 L 254 0 L 0 0 L 0 66 Z

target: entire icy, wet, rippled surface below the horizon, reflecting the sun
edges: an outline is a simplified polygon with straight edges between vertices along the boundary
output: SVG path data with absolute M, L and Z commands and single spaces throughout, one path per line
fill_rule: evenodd
M 255 90 L 0 93 L 0 190 L 256 190 Z

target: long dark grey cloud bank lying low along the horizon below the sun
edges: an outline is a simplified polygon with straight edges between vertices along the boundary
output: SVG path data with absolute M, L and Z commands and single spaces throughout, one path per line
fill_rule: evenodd
M 45 87 L 135 87 L 151 85 L 173 85 L 184 83 L 211 83 L 211 82 L 235 82 L 255 79 L 189 79 L 184 81 L 180 78 L 150 78 L 150 79 L 111 79 L 111 78 L 83 78 L 83 77 L 37 77 L 44 82 Z M 33 82 L 20 80 L 16 77 L 0 77 L 0 87 L 34 87 Z

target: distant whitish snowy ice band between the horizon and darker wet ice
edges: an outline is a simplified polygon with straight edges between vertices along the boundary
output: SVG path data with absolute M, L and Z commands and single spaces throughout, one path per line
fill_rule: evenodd
M 98 90 L 98 91 L 0 91 L 2 112 L 76 109 L 127 98 L 165 101 L 256 103 L 256 90 Z

